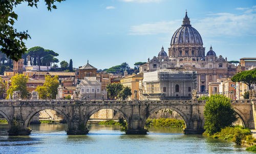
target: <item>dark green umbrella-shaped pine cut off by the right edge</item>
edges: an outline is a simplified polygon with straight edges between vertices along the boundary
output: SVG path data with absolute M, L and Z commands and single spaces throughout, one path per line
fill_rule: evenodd
M 249 87 L 249 90 L 251 90 L 251 84 L 256 83 L 256 69 L 237 73 L 231 80 L 232 82 L 242 82 Z

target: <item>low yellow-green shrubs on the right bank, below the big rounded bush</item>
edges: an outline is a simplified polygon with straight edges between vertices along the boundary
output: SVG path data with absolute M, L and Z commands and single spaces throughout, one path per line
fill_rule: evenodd
M 207 134 L 207 133 L 205 133 Z M 209 134 L 207 134 L 209 135 Z M 209 135 L 210 136 L 210 135 Z M 243 141 L 246 140 L 247 144 L 255 143 L 256 140 L 252 138 L 250 129 L 246 129 L 242 126 L 231 126 L 221 129 L 220 132 L 217 132 L 211 135 L 213 138 L 220 138 L 223 140 L 228 140 L 241 145 Z

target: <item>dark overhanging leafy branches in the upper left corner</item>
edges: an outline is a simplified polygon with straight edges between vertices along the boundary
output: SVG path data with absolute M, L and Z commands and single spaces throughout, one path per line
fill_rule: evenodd
M 48 11 L 57 9 L 55 2 L 64 0 L 45 0 Z M 18 61 L 26 52 L 27 48 L 24 40 L 30 38 L 28 31 L 17 32 L 14 28 L 15 20 L 18 15 L 14 12 L 15 7 L 24 2 L 30 7 L 37 7 L 38 0 L 3 0 L 0 2 L 0 51 L 7 55 L 8 58 Z

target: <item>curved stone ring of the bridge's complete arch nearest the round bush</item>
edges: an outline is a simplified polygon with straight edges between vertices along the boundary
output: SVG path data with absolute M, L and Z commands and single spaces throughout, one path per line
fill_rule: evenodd
M 189 126 L 189 120 L 188 118 L 186 117 L 185 113 L 183 113 L 182 111 L 180 111 L 179 109 L 177 108 L 174 108 L 173 106 L 160 106 L 160 107 L 155 107 L 153 109 L 151 109 L 150 111 L 148 111 L 148 114 L 146 114 L 143 118 L 143 125 L 145 125 L 145 122 L 146 122 L 146 119 L 148 117 L 150 117 L 151 114 L 155 113 L 156 111 L 158 110 L 162 110 L 162 109 L 171 109 L 171 110 L 174 110 L 176 111 L 177 113 L 180 114 L 180 116 L 183 118 L 184 122 L 185 122 L 185 126 L 186 128 Z

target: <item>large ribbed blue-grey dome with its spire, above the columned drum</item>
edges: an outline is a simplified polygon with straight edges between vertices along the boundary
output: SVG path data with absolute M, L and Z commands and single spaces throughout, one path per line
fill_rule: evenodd
M 191 27 L 190 20 L 187 17 L 187 12 L 183 18 L 183 24 L 174 33 L 170 45 L 176 44 L 199 44 L 203 45 L 203 41 L 199 32 Z

